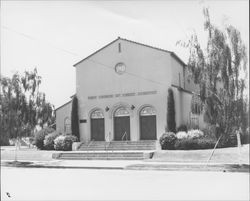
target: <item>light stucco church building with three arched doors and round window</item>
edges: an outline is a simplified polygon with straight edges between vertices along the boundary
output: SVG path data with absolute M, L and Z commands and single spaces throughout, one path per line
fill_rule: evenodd
M 197 87 L 174 52 L 118 37 L 74 67 L 81 142 L 158 140 L 167 127 L 169 88 L 176 126 L 203 125 L 191 113 Z M 71 104 L 56 109 L 62 133 L 71 132 Z

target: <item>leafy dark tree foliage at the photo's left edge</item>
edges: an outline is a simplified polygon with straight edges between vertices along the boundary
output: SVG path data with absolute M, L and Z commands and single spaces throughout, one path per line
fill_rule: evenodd
M 37 70 L 0 79 L 0 131 L 6 138 L 30 136 L 34 128 L 54 121 L 53 105 L 39 91 Z

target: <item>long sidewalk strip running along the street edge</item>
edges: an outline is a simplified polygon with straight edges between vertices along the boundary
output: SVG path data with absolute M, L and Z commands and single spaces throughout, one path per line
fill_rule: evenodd
M 120 169 L 120 170 L 166 170 L 166 171 L 216 171 L 216 172 L 246 172 L 248 164 L 221 163 L 170 163 L 128 160 L 52 160 L 52 161 L 23 161 L 2 160 L 3 167 L 21 168 L 68 168 L 68 169 Z

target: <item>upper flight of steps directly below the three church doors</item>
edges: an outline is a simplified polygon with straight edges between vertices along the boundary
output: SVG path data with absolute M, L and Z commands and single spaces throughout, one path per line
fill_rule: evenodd
M 81 144 L 78 150 L 81 151 L 98 151 L 98 150 L 155 150 L 156 140 L 141 141 L 91 141 Z

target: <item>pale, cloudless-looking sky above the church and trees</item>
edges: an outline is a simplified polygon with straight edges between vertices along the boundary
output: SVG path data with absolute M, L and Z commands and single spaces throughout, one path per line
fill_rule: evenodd
M 248 0 L 1 1 L 1 74 L 37 68 L 40 90 L 59 107 L 75 93 L 73 65 L 118 36 L 174 51 L 195 31 L 204 45 L 203 7 L 211 21 L 232 24 L 249 50 Z

